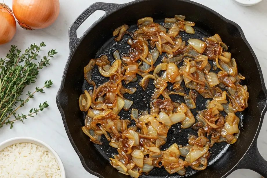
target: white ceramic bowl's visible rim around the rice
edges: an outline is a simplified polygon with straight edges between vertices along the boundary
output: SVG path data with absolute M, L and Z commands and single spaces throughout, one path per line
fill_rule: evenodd
M 61 177 L 62 178 L 66 178 L 63 163 L 62 163 L 59 155 L 57 154 L 57 152 L 51 146 L 49 146 L 48 144 L 46 144 L 43 141 L 40 141 L 38 139 L 35 139 L 35 138 L 32 138 L 32 137 L 15 137 L 15 138 L 12 138 L 12 139 L 8 139 L 6 141 L 3 141 L 0 144 L 0 152 L 4 148 L 6 148 L 8 146 L 11 146 L 13 144 L 18 144 L 18 143 L 32 143 L 32 144 L 36 144 L 36 145 L 39 145 L 39 146 L 45 148 L 48 152 L 50 152 L 55 157 L 55 159 L 56 159 L 56 161 L 57 161 L 57 163 L 59 165 L 59 168 L 61 170 Z

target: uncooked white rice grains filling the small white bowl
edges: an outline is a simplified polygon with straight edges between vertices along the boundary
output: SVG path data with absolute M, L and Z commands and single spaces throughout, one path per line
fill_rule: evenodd
M 32 144 L 14 144 L 0 152 L 1 178 L 60 178 L 56 159 L 45 148 Z

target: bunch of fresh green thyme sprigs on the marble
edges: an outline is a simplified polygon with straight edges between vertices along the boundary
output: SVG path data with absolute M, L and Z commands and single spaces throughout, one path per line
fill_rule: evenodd
M 19 108 L 34 98 L 34 93 L 44 93 L 43 89 L 50 88 L 53 84 L 51 80 L 46 81 L 43 87 L 36 87 L 33 92 L 28 91 L 28 97 L 21 99 L 24 88 L 35 82 L 39 70 L 49 65 L 50 58 L 57 54 L 52 49 L 38 63 L 34 62 L 38 60 L 38 54 L 45 46 L 44 42 L 39 46 L 34 43 L 22 52 L 17 46 L 11 45 L 6 58 L 0 58 L 0 128 L 8 124 L 12 128 L 15 121 L 23 122 L 27 117 L 34 117 L 34 114 L 49 106 L 44 102 L 39 105 L 39 108 L 32 108 L 27 115 L 16 113 Z

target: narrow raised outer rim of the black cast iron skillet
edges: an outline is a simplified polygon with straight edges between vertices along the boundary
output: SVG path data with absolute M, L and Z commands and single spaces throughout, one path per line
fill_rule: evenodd
M 110 6 L 110 8 L 115 8 L 115 10 L 112 10 L 110 14 L 122 9 L 122 8 L 125 8 L 125 7 L 128 7 L 132 4 L 136 4 L 136 3 L 140 3 L 140 2 L 143 2 L 143 1 L 153 1 L 153 0 L 136 0 L 136 1 L 131 1 L 129 3 L 123 3 L 123 4 L 115 4 L 115 3 L 105 3 L 107 4 L 108 6 Z M 256 66 L 258 68 L 258 71 L 259 71 L 259 77 L 260 77 L 260 80 L 261 80 L 261 88 L 264 92 L 264 95 L 265 95 L 265 106 L 264 106 L 264 109 L 262 110 L 261 112 L 261 117 L 260 117 L 260 120 L 259 120 L 259 125 L 257 127 L 257 131 L 255 133 L 255 136 L 250 144 L 250 146 L 247 148 L 246 150 L 246 153 L 248 152 L 248 150 L 250 149 L 250 147 L 254 144 L 254 142 L 256 141 L 256 144 L 257 144 L 257 138 L 258 138 L 258 135 L 259 135 L 259 132 L 260 132 L 260 128 L 262 126 L 262 122 L 263 122 L 263 119 L 264 119 L 264 115 L 266 113 L 266 110 L 267 110 L 267 101 L 266 101 L 266 98 L 267 98 L 267 90 L 266 90 L 266 86 L 265 86 L 265 83 L 264 83 L 264 78 L 263 78 L 263 74 L 262 74 L 262 71 L 261 71 L 261 67 L 259 65 L 259 61 L 255 55 L 255 52 L 253 51 L 252 47 L 250 46 L 250 44 L 248 43 L 248 41 L 246 40 L 246 37 L 244 35 L 244 32 L 243 30 L 241 29 L 241 27 L 229 20 L 229 19 L 226 19 L 225 17 L 223 17 L 221 14 L 219 14 L 218 12 L 208 8 L 207 6 L 204 6 L 200 3 L 197 3 L 197 2 L 194 2 L 194 1 L 190 1 L 190 0 L 176 0 L 176 1 L 181 1 L 181 2 L 186 2 L 186 3 L 190 3 L 190 4 L 193 4 L 193 5 L 196 5 L 198 6 L 199 8 L 204 8 L 210 12 L 212 12 L 212 14 L 216 15 L 217 17 L 221 18 L 223 21 L 225 21 L 226 23 L 228 24 L 232 24 L 233 26 L 235 26 L 239 33 L 240 33 L 240 36 L 242 38 L 242 40 L 245 42 L 246 46 L 248 47 L 249 51 L 251 52 L 251 54 L 253 55 L 253 59 L 256 63 Z M 93 3 L 91 6 L 93 5 L 97 5 L 97 4 L 100 4 L 101 2 L 96 2 L 96 3 Z M 90 7 L 90 6 L 89 6 Z M 97 8 L 95 8 L 94 10 L 98 10 Z M 107 12 L 106 12 L 107 14 Z M 56 96 L 56 102 L 57 102 L 57 106 L 58 106 L 58 109 L 59 109 L 59 112 L 61 113 L 61 117 L 62 117 L 62 120 L 63 120 L 63 124 L 64 124 L 64 127 L 65 127 L 65 130 L 66 130 L 66 133 L 68 135 L 68 138 L 70 140 L 70 143 L 72 144 L 72 147 L 74 148 L 75 152 L 77 153 L 77 155 L 79 156 L 79 159 L 81 161 L 81 164 L 83 165 L 83 167 L 86 169 L 86 171 L 88 171 L 90 174 L 92 175 L 95 175 L 99 178 L 105 178 L 103 177 L 100 173 L 98 172 L 95 172 L 95 171 L 92 171 L 90 168 L 88 168 L 88 166 L 86 165 L 85 163 L 85 160 L 83 158 L 83 156 L 81 155 L 81 153 L 79 152 L 77 146 L 75 145 L 73 139 L 72 139 L 72 136 L 70 134 L 70 131 L 68 129 L 68 125 L 67 125 L 67 122 L 66 122 L 66 118 L 65 118 L 65 114 L 64 114 L 64 111 L 63 111 L 63 108 L 61 106 L 61 103 L 60 103 L 60 100 L 61 100 L 61 94 L 63 92 L 63 89 L 64 89 L 64 84 L 65 84 L 65 79 L 66 79 L 66 74 L 67 74 L 67 71 L 68 71 L 68 67 L 70 65 L 70 61 L 76 51 L 76 49 L 78 48 L 78 46 L 80 45 L 81 41 L 83 41 L 83 39 L 85 38 L 85 36 L 93 29 L 95 28 L 95 26 L 101 22 L 103 19 L 105 18 L 108 18 L 110 14 L 107 14 L 107 15 L 103 15 L 102 17 L 100 17 L 99 19 L 97 19 L 97 21 L 95 21 L 85 32 L 84 34 L 79 38 L 79 41 L 77 44 L 75 44 L 75 46 L 71 46 L 71 28 L 72 26 L 74 25 L 75 21 L 77 21 L 77 19 L 80 17 L 77 17 L 77 19 L 71 24 L 70 26 L 70 29 L 69 29 L 69 45 L 70 45 L 70 54 L 69 54 L 69 57 L 68 57 L 68 60 L 66 61 L 66 65 L 65 65 L 65 68 L 64 68 L 64 71 L 63 71 L 63 75 L 62 75 L 62 81 L 61 81 L 61 85 L 60 85 L 60 88 L 57 92 L 57 96 Z M 76 31 L 76 29 L 75 29 Z M 76 35 L 76 33 L 75 33 Z M 235 166 L 233 166 L 233 168 L 231 168 L 225 175 L 223 175 L 222 177 L 226 177 L 227 175 L 229 175 L 230 173 L 232 173 L 234 170 L 236 170 L 236 167 L 237 165 L 241 162 L 241 160 L 244 158 L 244 156 L 246 155 L 246 153 L 242 156 L 242 158 L 237 162 L 237 164 Z

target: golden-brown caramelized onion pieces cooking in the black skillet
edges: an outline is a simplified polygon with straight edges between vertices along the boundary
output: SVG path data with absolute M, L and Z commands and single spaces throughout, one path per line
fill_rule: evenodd
M 151 17 L 139 19 L 137 25 L 138 30 L 133 33 L 127 31 L 127 25 L 113 32 L 117 36 L 115 41 L 120 41 L 124 34 L 129 35 L 127 54 L 120 56 L 115 50 L 112 65 L 107 55 L 101 55 L 91 59 L 84 68 L 84 77 L 94 89 L 84 91 L 79 99 L 81 110 L 87 111 L 82 130 L 95 144 L 102 144 L 101 135 L 105 136 L 103 139 L 118 151 L 110 158 L 110 164 L 125 175 L 137 178 L 162 166 L 168 173 L 181 176 L 186 174 L 188 166 L 204 170 L 210 157 L 208 150 L 214 143 L 234 144 L 238 139 L 239 118 L 235 113 L 248 107 L 248 87 L 240 85 L 245 77 L 237 72 L 237 63 L 218 34 L 203 41 L 189 39 L 188 45 L 182 40 L 180 31 L 195 33 L 192 28 L 195 23 L 186 21 L 185 16 L 166 18 L 164 27 L 154 23 Z M 166 54 L 158 61 L 162 52 Z M 217 71 L 212 71 L 208 60 L 212 60 L 212 69 Z M 97 88 L 91 78 L 95 64 L 101 75 L 109 77 Z M 153 79 L 155 89 L 151 94 L 150 113 L 132 108 L 131 122 L 119 113 L 135 106 L 134 100 L 125 97 L 136 91 L 139 94 L 140 89 L 124 85 L 138 79 L 143 90 L 148 87 L 149 79 Z M 181 86 L 182 81 L 190 88 L 189 92 Z M 173 101 L 170 95 L 184 97 L 184 103 Z M 212 100 L 207 100 L 205 109 L 197 110 L 196 122 L 190 109 L 196 108 L 199 97 Z M 224 117 L 221 112 L 228 115 Z M 179 122 L 182 129 L 198 130 L 197 136 L 189 134 L 187 146 L 172 144 L 161 150 L 167 142 L 168 130 Z

